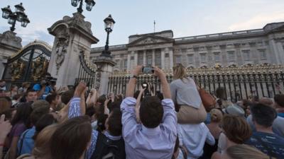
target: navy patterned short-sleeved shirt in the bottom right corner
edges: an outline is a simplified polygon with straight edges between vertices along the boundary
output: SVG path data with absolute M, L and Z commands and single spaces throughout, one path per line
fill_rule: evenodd
M 277 134 L 256 131 L 246 144 L 274 158 L 284 158 L 284 138 Z

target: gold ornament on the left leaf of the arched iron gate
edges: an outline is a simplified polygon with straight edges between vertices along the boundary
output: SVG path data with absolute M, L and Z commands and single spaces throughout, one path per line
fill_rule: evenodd
M 26 68 L 26 64 L 23 62 L 16 60 L 13 61 L 11 65 L 11 81 L 16 81 L 17 79 L 21 78 L 23 76 L 23 71 Z

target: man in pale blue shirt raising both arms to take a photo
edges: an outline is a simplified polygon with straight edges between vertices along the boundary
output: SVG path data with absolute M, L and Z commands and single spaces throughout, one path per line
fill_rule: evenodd
M 153 69 L 154 76 L 161 82 L 164 100 L 158 97 L 145 97 L 139 108 L 141 123 L 136 121 L 136 99 L 133 98 L 137 76 L 142 73 L 142 66 L 132 71 L 126 98 L 121 103 L 122 136 L 125 141 L 126 158 L 172 158 L 177 138 L 177 118 L 170 86 L 165 73 L 158 67 Z

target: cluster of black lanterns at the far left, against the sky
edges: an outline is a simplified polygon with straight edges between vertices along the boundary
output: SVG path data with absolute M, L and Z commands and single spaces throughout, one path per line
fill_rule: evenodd
M 2 10 L 2 18 L 8 19 L 8 23 L 11 24 L 10 30 L 13 32 L 15 30 L 16 21 L 21 22 L 21 26 L 26 28 L 30 20 L 28 20 L 28 16 L 26 15 L 25 8 L 23 8 L 23 4 L 17 4 L 15 6 L 16 11 L 12 12 L 10 6 L 5 8 L 1 8 Z

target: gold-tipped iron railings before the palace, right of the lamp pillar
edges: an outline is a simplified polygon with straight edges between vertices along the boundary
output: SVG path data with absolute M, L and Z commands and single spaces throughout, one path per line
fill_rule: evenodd
M 242 67 L 218 67 L 207 69 L 187 69 L 188 76 L 209 93 L 216 94 L 219 87 L 225 88 L 226 98 L 232 101 L 247 99 L 251 95 L 272 98 L 275 94 L 284 93 L 284 66 L 257 65 Z M 165 70 L 168 82 L 173 81 L 173 72 Z M 108 92 L 125 93 L 123 89 L 130 79 L 129 72 L 114 72 L 109 78 Z M 155 90 L 160 90 L 160 81 L 147 74 L 138 76 L 137 86 L 151 82 Z M 122 89 L 121 89 L 122 88 Z

